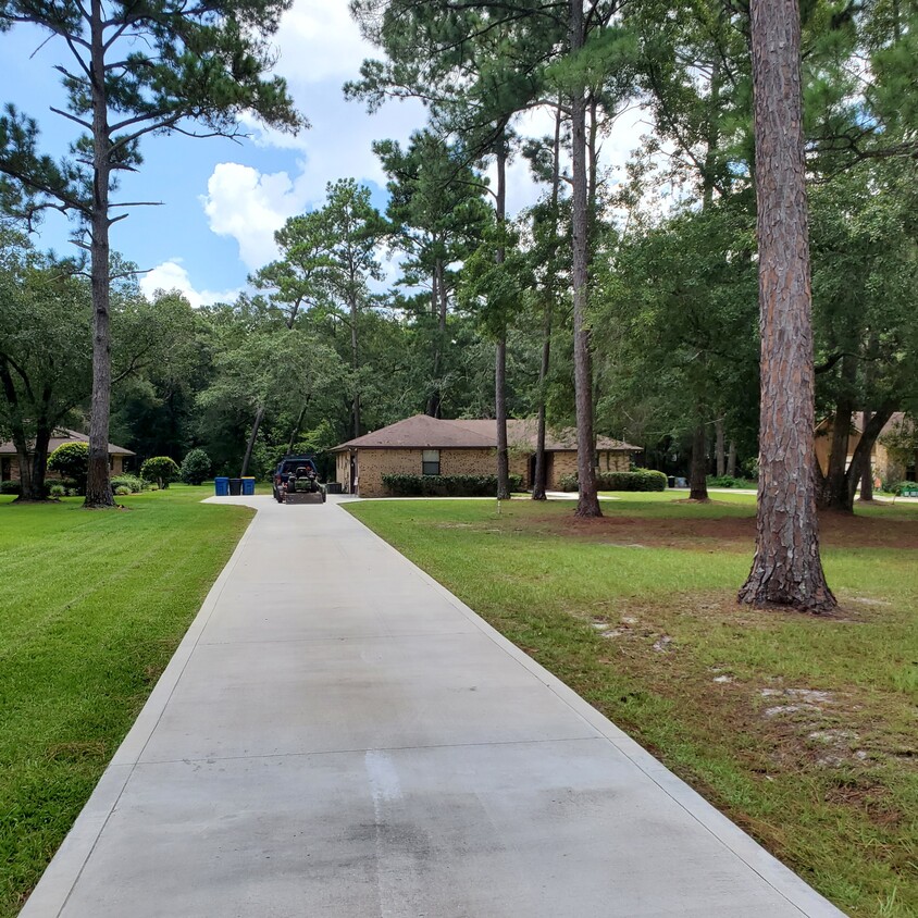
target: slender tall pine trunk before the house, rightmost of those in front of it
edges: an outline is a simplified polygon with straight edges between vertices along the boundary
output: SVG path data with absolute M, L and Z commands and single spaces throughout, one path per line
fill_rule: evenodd
M 576 53 L 583 47 L 583 3 L 570 0 L 570 49 Z M 574 89 L 571 97 L 571 184 L 572 184 L 572 256 L 573 256 L 573 334 L 574 334 L 574 398 L 576 404 L 576 473 L 580 495 L 578 517 L 601 517 L 596 493 L 594 456 L 596 438 L 593 433 L 593 371 L 590 356 L 590 330 L 586 325 L 587 284 L 590 266 L 590 214 L 586 176 L 586 103 L 583 89 Z

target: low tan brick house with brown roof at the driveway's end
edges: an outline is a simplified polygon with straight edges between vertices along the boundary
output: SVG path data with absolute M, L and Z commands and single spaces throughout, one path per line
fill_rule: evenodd
M 526 487 L 535 474 L 534 420 L 507 422 L 510 473 L 521 475 Z M 596 442 L 600 472 L 628 471 L 641 447 L 599 437 Z M 345 492 L 360 497 L 384 497 L 383 475 L 493 475 L 496 471 L 496 421 L 443 421 L 415 414 L 372 434 L 336 446 L 336 477 Z M 547 433 L 546 484 L 560 485 L 562 475 L 576 472 L 576 435 L 573 431 Z

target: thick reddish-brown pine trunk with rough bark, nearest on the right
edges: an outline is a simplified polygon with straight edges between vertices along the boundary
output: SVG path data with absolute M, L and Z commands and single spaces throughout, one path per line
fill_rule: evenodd
M 739 594 L 829 612 L 819 557 L 806 163 L 796 0 L 752 0 L 761 421 L 756 554 Z

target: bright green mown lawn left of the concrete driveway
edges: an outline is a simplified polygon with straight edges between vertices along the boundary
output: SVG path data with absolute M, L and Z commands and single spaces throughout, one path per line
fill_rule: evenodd
M 0 916 L 17 913 L 251 519 L 173 485 L 0 498 Z

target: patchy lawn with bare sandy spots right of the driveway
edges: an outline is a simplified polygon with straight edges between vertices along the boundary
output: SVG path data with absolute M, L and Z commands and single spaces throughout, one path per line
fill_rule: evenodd
M 832 618 L 735 603 L 753 497 L 348 510 L 852 916 L 918 914 L 918 507 L 823 520 Z

